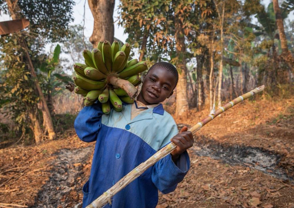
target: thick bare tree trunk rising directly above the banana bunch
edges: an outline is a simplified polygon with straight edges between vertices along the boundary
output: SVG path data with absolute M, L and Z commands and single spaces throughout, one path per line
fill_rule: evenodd
M 94 17 L 94 28 L 90 37 L 93 48 L 97 48 L 101 40 L 108 40 L 112 44 L 114 0 L 88 0 L 88 4 Z

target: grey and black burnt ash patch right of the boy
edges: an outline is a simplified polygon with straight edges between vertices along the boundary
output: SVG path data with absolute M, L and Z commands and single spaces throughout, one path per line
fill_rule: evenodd
M 206 137 L 194 141 L 194 152 L 198 156 L 211 157 L 230 165 L 248 166 L 275 178 L 294 183 L 283 167 L 278 166 L 283 155 L 259 147 L 221 144 Z

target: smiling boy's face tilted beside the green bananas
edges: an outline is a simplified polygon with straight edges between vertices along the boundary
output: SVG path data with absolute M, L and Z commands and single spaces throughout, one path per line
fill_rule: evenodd
M 170 71 L 156 67 L 143 77 L 140 94 L 147 104 L 160 103 L 173 94 L 176 80 Z

